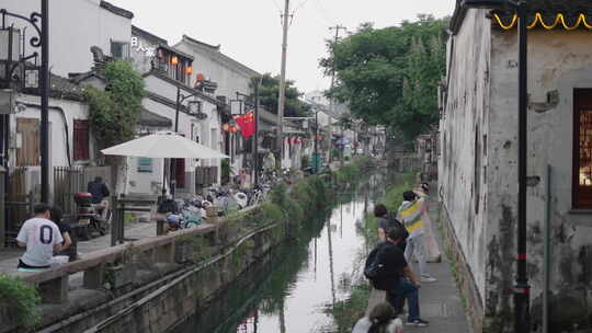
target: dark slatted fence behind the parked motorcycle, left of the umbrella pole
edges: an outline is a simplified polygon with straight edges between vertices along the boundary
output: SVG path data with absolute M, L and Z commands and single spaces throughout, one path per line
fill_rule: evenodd
M 65 215 L 76 211 L 73 195 L 87 192 L 87 185 L 94 177 L 103 179 L 113 188 L 110 166 L 56 166 L 54 168 L 54 204 L 61 207 Z

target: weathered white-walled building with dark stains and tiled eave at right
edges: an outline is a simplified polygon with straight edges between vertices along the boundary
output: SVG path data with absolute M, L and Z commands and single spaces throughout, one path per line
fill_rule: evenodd
M 517 28 L 511 14 L 457 3 L 440 122 L 441 220 L 464 259 L 476 329 L 509 332 L 517 233 Z M 527 271 L 538 306 L 549 272 L 549 332 L 561 332 L 591 314 L 582 290 L 592 285 L 592 58 L 584 27 L 592 24 L 592 5 L 533 0 L 527 13 Z M 548 265 L 545 243 L 553 251 Z

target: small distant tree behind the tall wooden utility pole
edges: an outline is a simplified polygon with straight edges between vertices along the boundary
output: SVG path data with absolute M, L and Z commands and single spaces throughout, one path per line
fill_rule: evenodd
M 258 84 L 259 79 L 254 79 L 251 85 Z M 310 105 L 300 101 L 303 93 L 294 87 L 294 81 L 286 81 L 286 106 L 285 116 L 308 116 Z M 280 97 L 280 77 L 272 77 L 271 73 L 263 74 L 261 87 L 259 88 L 259 101 L 273 114 L 277 114 L 277 102 Z

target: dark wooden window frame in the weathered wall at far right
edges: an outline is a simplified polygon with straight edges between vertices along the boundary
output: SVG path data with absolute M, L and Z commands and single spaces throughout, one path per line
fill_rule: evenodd
M 592 209 L 592 186 L 580 186 L 580 112 L 592 111 L 592 89 L 573 90 L 573 138 L 571 206 L 573 209 Z

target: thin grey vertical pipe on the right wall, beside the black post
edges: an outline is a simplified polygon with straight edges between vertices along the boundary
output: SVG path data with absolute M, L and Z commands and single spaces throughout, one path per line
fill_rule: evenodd
M 549 285 L 550 285 L 550 216 L 551 216 L 551 166 L 547 165 L 546 207 L 545 207 L 545 244 L 543 263 L 543 333 L 549 333 Z

